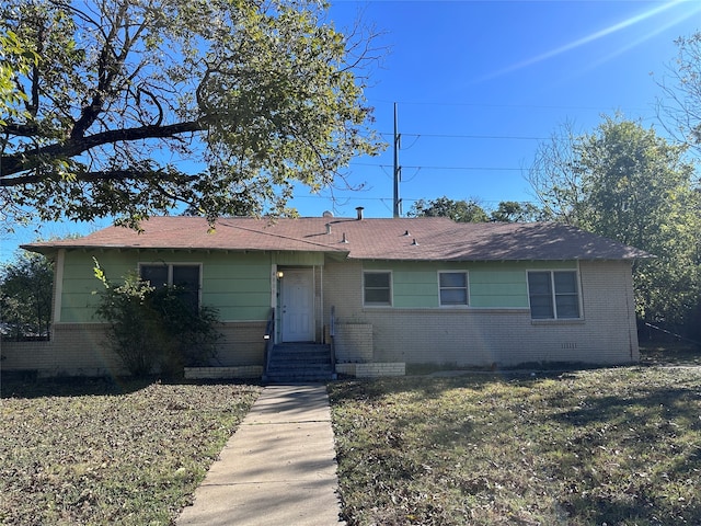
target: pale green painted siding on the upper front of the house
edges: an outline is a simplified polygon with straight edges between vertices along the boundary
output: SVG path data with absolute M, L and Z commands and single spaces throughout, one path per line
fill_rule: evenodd
M 60 320 L 93 322 L 103 287 L 94 277 L 93 255 L 113 283 L 139 263 L 193 263 L 203 270 L 203 305 L 219 310 L 222 321 L 265 320 L 272 298 L 273 265 L 319 265 L 317 253 L 198 253 L 173 251 L 67 251 Z M 538 268 L 577 268 L 576 262 L 397 262 L 368 261 L 365 270 L 392 272 L 392 306 L 398 309 L 439 308 L 439 271 L 467 271 L 470 307 L 528 308 L 526 272 Z M 359 285 L 361 286 L 361 285 Z

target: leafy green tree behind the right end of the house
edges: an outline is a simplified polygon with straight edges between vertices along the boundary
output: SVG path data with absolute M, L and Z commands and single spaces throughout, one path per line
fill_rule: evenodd
M 559 220 L 653 254 L 634 265 L 639 313 L 690 322 L 701 294 L 701 201 L 686 146 L 620 117 L 556 137 L 538 150 L 536 194 Z

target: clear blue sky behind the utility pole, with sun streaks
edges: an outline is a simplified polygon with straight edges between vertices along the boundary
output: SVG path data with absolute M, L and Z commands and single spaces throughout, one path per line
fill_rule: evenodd
M 539 141 L 565 122 L 593 130 L 621 112 L 664 135 L 655 102 L 676 56 L 674 41 L 701 30 L 701 2 L 629 1 L 344 1 L 333 2 L 337 28 L 360 16 L 384 49 L 371 68 L 368 103 L 390 145 L 359 158 L 347 180 L 361 191 L 309 195 L 291 203 L 302 216 L 332 210 L 392 215 L 392 133 L 397 103 L 405 214 L 415 199 L 532 201 L 525 171 Z M 651 75 L 654 73 L 654 75 Z M 67 236 L 108 225 L 47 225 L 41 236 Z M 0 240 L 0 261 L 34 228 Z

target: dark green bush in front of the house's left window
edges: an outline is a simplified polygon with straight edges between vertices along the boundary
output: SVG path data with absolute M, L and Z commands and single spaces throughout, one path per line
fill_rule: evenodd
M 152 287 L 136 273 L 115 286 L 97 261 L 95 276 L 105 287 L 96 316 L 110 323 L 110 343 L 131 375 L 182 376 L 183 367 L 216 356 L 216 309 L 192 305 L 180 287 Z

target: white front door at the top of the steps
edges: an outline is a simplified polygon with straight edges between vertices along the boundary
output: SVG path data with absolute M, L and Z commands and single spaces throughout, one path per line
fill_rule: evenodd
M 314 275 L 312 268 L 284 271 L 283 342 L 314 340 Z

